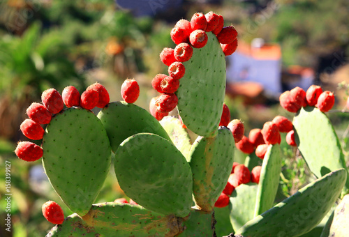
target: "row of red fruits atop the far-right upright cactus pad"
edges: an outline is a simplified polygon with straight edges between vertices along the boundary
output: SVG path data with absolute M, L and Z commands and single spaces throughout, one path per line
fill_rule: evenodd
M 322 91 L 316 85 L 311 85 L 307 91 L 297 86 L 280 95 L 280 105 L 292 113 L 297 113 L 306 106 L 315 106 L 321 112 L 328 112 L 334 105 L 334 94 L 331 91 Z

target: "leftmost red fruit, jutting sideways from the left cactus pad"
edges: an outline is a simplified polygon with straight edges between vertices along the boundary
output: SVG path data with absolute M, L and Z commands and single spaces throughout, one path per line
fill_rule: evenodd
M 21 160 L 31 162 L 43 157 L 43 149 L 33 142 L 19 142 L 15 154 Z

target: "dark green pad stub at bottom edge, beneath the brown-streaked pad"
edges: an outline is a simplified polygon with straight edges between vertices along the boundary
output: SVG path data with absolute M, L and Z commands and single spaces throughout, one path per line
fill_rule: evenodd
M 205 213 L 192 209 L 188 220 L 184 221 L 184 231 L 178 236 L 214 236 L 214 216 L 213 211 Z

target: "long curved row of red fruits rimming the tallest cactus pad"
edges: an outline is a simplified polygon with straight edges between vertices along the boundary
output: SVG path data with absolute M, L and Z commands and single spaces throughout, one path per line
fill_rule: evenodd
M 160 54 L 161 61 L 168 66 L 168 75 L 158 74 L 151 81 L 151 86 L 161 93 L 149 105 L 151 114 L 158 121 L 177 106 L 178 98 L 174 93 L 179 88 L 179 79 L 186 72 L 183 63 L 193 56 L 193 47 L 201 48 L 207 44 L 206 32 L 210 31 L 216 35 L 225 56 L 235 52 L 237 31 L 233 26 L 224 27 L 223 17 L 216 13 L 195 13 L 190 22 L 179 20 L 171 30 L 171 38 L 177 46 L 174 49 L 165 47 Z

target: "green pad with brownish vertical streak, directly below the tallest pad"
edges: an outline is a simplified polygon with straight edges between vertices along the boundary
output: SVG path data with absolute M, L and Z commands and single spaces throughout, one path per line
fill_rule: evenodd
M 198 137 L 191 148 L 193 194 L 195 204 L 211 211 L 228 182 L 234 162 L 232 132 L 220 127 L 216 137 Z

